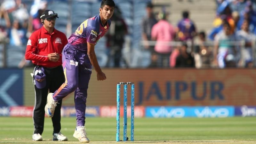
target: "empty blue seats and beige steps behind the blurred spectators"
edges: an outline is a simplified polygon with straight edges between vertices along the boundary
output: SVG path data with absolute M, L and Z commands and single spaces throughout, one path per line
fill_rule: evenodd
M 142 49 L 140 44 L 141 40 L 141 21 L 142 18 L 146 15 L 145 7 L 149 1 L 155 5 L 154 12 L 155 14 L 161 10 L 161 7 L 167 6 L 168 11 L 171 13 L 169 20 L 173 25 L 176 25 L 178 20 L 181 19 L 181 12 L 183 10 L 189 9 L 191 13 L 191 19 L 196 22 L 196 27 L 200 31 L 204 29 L 208 32 L 212 28 L 212 20 L 215 15 L 215 2 L 209 1 L 205 3 L 204 0 L 191 0 L 191 1 L 178 1 L 178 0 L 114 0 L 116 5 L 120 7 L 123 18 L 128 26 L 128 35 L 126 36 L 129 41 L 126 41 L 125 44 L 129 48 L 125 49 L 125 55 L 130 55 L 131 57 L 125 57 L 128 61 L 128 67 L 147 67 L 148 61 L 150 61 L 150 54 L 148 55 Z M 54 12 L 58 13 L 59 19 L 56 21 L 55 28 L 64 32 L 67 37 L 70 34 L 74 33 L 75 30 L 80 26 L 80 24 L 97 14 L 99 14 L 99 8 L 101 0 L 48 0 L 47 9 L 52 9 Z M 34 0 L 22 0 L 22 3 L 27 6 L 28 11 L 30 11 L 31 5 L 34 3 Z M 200 16 L 199 16 L 200 15 Z M 24 48 L 24 47 L 23 47 Z M 22 48 L 21 48 L 22 49 Z M 20 57 L 23 51 L 20 51 L 19 48 L 12 49 L 14 54 L 17 54 L 17 57 Z M 104 60 L 107 57 L 106 50 L 106 39 L 103 37 L 96 45 L 97 52 L 100 54 L 97 55 L 98 59 L 101 61 L 100 65 L 104 66 Z M 9 50 L 8 50 L 9 51 Z M 0 52 L 1 56 L 3 55 Z M 133 58 L 133 57 L 138 58 Z M 140 61 L 144 60 L 145 61 Z M 0 57 L 1 60 L 1 57 Z M 16 61 L 16 63 L 15 63 Z M 1 61 L 0 61 L 1 62 Z M 16 66 L 18 60 L 10 61 L 8 58 L 8 66 Z M 15 63 L 15 64 L 14 64 Z M 1 65 L 0 65 L 1 67 Z

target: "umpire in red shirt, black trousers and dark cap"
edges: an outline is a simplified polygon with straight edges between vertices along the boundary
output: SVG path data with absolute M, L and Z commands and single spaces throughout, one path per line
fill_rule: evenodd
M 28 39 L 25 53 L 26 60 L 31 60 L 35 65 L 33 83 L 35 85 L 35 105 L 33 110 L 34 133 L 32 139 L 43 140 L 44 131 L 44 107 L 49 92 L 55 92 L 65 82 L 62 69 L 62 49 L 68 43 L 64 33 L 54 28 L 58 14 L 52 10 L 45 10 L 40 19 L 43 27 L 31 34 Z M 59 100 L 52 117 L 53 139 L 68 140 L 60 133 L 60 108 L 62 100 Z

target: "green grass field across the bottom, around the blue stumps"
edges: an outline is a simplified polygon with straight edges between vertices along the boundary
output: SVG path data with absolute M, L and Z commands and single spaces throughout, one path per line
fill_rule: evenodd
M 78 143 L 72 136 L 76 118 L 63 117 L 61 125 L 69 140 L 64 143 Z M 32 117 L 0 117 L 0 143 L 38 143 L 31 140 L 33 129 Z M 39 143 L 53 143 L 52 130 L 51 119 L 45 117 L 44 141 Z M 127 131 L 130 139 L 130 123 Z M 135 118 L 134 131 L 133 143 L 256 143 L 256 117 Z M 116 143 L 116 119 L 88 117 L 86 132 L 90 143 Z

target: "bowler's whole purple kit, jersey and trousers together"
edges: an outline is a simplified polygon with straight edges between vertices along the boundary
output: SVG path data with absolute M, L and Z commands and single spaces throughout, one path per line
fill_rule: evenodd
M 75 91 L 76 126 L 84 126 L 87 89 L 92 73 L 92 64 L 87 55 L 87 43 L 96 44 L 110 26 L 103 26 L 100 15 L 85 20 L 68 38 L 62 51 L 65 83 L 54 92 L 53 100 L 59 101 Z

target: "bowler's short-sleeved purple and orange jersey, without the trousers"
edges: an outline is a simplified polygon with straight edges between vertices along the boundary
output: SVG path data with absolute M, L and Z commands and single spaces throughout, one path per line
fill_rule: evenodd
M 85 20 L 68 38 L 68 44 L 76 49 L 87 51 L 87 43 L 96 44 L 97 41 L 106 34 L 110 26 L 110 20 L 103 26 L 100 15 Z

